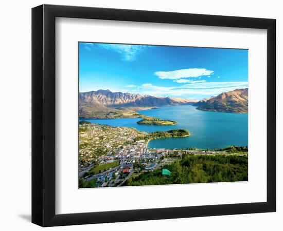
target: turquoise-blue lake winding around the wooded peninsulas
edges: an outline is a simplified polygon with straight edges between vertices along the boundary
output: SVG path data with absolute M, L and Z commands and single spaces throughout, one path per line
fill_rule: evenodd
M 149 148 L 221 148 L 230 145 L 247 146 L 247 113 L 223 113 L 197 110 L 191 105 L 166 106 L 159 109 L 141 110 L 140 114 L 176 121 L 174 126 L 138 125 L 140 118 L 92 120 L 91 123 L 111 126 L 133 127 L 140 131 L 167 131 L 186 129 L 186 138 L 151 140 Z

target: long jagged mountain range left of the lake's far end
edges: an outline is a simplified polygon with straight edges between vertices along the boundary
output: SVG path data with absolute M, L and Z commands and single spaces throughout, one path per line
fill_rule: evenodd
M 197 100 L 154 97 L 132 93 L 97 90 L 79 93 L 79 117 L 116 118 L 135 117 L 136 111 L 160 106 L 193 104 Z

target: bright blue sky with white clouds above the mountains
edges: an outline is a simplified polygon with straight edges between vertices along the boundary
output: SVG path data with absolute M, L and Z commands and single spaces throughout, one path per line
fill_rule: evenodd
M 247 87 L 247 50 L 79 43 L 80 92 L 203 99 Z

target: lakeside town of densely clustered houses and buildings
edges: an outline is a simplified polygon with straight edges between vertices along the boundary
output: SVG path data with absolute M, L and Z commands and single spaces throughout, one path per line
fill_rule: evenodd
M 163 168 L 184 155 L 229 155 L 225 150 L 149 149 L 148 137 L 147 132 L 135 128 L 80 123 L 80 187 L 123 186 L 143 172 Z

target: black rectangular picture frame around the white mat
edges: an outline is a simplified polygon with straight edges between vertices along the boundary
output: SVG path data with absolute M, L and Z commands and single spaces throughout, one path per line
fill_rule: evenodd
M 55 18 L 267 29 L 267 201 L 55 214 Z M 276 21 L 267 18 L 41 5 L 32 9 L 32 223 L 77 225 L 276 210 Z

